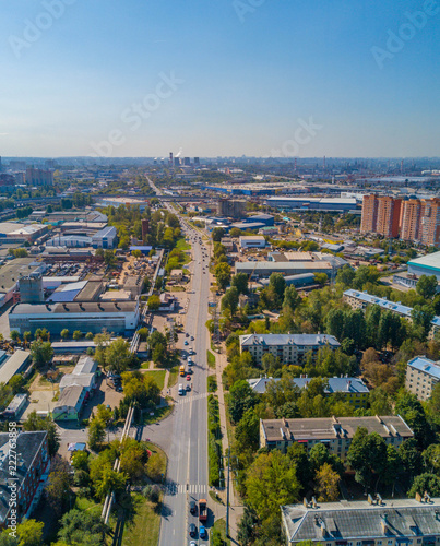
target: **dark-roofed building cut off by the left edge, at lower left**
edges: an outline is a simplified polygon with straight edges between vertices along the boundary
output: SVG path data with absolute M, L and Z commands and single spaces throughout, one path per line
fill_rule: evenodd
M 16 523 L 28 518 L 44 490 L 50 459 L 47 431 L 19 432 L 12 449 L 10 432 L 0 432 L 0 525 L 10 526 L 16 510 Z M 10 464 L 15 462 L 16 471 L 11 479 Z M 16 501 L 16 503 L 15 503 Z

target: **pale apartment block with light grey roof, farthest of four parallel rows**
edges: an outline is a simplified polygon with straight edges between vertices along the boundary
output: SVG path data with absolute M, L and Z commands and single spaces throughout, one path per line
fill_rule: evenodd
M 240 352 L 248 351 L 255 364 L 270 353 L 283 364 L 301 364 L 305 355 L 313 355 L 320 348 L 335 351 L 341 346 L 333 335 L 328 334 L 247 334 L 240 335 Z

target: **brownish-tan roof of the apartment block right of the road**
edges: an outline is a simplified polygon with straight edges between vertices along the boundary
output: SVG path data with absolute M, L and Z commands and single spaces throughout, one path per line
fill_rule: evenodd
M 369 434 L 377 432 L 382 438 L 413 438 L 413 430 L 400 415 L 374 417 L 318 417 L 310 419 L 262 419 L 264 437 L 267 441 L 289 439 L 332 440 L 353 438 L 358 427 Z

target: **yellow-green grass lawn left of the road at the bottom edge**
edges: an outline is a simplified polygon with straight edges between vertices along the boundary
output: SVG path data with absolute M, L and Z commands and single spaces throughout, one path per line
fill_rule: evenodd
M 160 512 L 140 494 L 133 494 L 134 518 L 123 530 L 122 546 L 157 546 Z

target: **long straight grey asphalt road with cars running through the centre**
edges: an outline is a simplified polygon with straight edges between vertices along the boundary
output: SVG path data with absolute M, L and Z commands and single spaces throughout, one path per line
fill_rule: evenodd
M 195 233 L 191 229 L 192 238 Z M 174 397 L 178 400 L 174 411 L 174 423 L 170 449 L 168 451 L 167 487 L 164 498 L 163 519 L 160 524 L 160 546 L 174 546 L 189 544 L 190 537 L 188 526 L 194 523 L 199 529 L 199 520 L 189 512 L 189 501 L 209 498 L 207 486 L 207 403 L 206 403 L 206 377 L 207 377 L 207 331 L 209 319 L 207 301 L 210 296 L 209 259 L 202 257 L 204 242 L 199 242 L 199 234 L 195 242 L 191 241 L 193 248 L 192 263 L 192 289 L 189 294 L 189 305 L 186 321 L 186 332 L 194 336 L 186 337 L 189 345 L 185 348 L 193 348 L 192 356 L 195 363 L 191 377 L 192 390 L 185 396 Z M 205 254 L 207 253 L 205 248 Z M 199 263 L 200 262 L 200 263 Z M 203 273 L 204 268 L 204 273 Z M 182 360 L 187 365 L 187 360 Z M 187 385 L 186 378 L 179 378 L 179 383 Z M 209 541 L 199 536 L 193 538 L 197 544 L 207 544 Z

